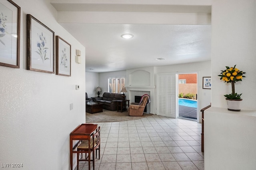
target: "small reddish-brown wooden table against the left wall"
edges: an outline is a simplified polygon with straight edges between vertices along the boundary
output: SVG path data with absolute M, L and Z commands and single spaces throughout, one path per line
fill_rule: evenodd
M 78 144 L 82 140 L 88 140 L 90 143 L 90 138 L 94 131 L 97 129 L 98 125 L 96 124 L 81 124 L 76 129 L 74 129 L 70 133 L 70 170 L 73 170 L 73 153 L 77 153 L 77 151 L 74 151 L 76 147 L 78 147 Z M 73 141 L 74 140 L 79 140 L 76 145 L 73 147 Z M 90 149 L 89 149 L 90 150 Z M 89 152 L 90 153 L 90 152 Z M 90 161 L 88 162 L 90 165 Z M 89 166 L 90 167 L 90 166 Z

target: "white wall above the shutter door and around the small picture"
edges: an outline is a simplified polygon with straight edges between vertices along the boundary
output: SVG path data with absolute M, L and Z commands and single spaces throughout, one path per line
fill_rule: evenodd
M 189 72 L 198 72 L 198 108 L 202 109 L 208 106 L 211 103 L 211 90 L 203 89 L 202 87 L 202 77 L 211 76 L 211 61 L 204 61 L 198 63 L 188 63 L 188 64 L 176 64 L 169 66 L 159 66 L 155 69 L 157 73 L 167 73 L 167 72 L 176 72 L 176 73 L 189 73 Z M 200 122 L 202 118 L 202 113 L 200 112 Z

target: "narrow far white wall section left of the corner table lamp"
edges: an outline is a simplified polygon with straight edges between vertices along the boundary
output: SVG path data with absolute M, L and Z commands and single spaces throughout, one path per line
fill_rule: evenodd
M 99 73 L 86 72 L 85 84 L 86 84 L 86 92 L 87 92 L 88 98 L 98 96 L 95 90 L 99 86 Z

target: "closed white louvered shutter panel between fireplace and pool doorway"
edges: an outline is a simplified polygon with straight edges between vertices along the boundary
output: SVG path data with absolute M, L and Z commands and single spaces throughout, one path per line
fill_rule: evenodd
M 176 118 L 176 74 L 157 75 L 157 115 Z

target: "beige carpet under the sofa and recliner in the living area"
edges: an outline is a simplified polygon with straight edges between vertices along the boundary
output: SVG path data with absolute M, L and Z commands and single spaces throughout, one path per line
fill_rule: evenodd
M 142 116 L 129 116 L 127 111 L 121 113 L 103 109 L 103 112 L 100 113 L 91 114 L 86 112 L 86 123 L 137 120 L 151 115 L 153 114 L 143 113 Z

